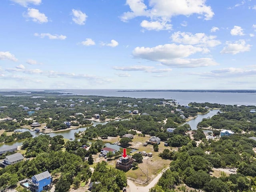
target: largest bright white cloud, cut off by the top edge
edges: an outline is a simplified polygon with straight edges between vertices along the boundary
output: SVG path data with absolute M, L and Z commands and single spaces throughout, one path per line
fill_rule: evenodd
M 130 7 L 130 11 L 124 12 L 121 20 L 127 22 L 138 16 L 146 16 L 150 20 L 143 20 L 140 25 L 147 30 L 171 29 L 173 16 L 199 14 L 205 20 L 214 16 L 212 8 L 206 6 L 205 0 L 149 0 L 148 6 L 144 0 L 126 0 L 126 5 Z

